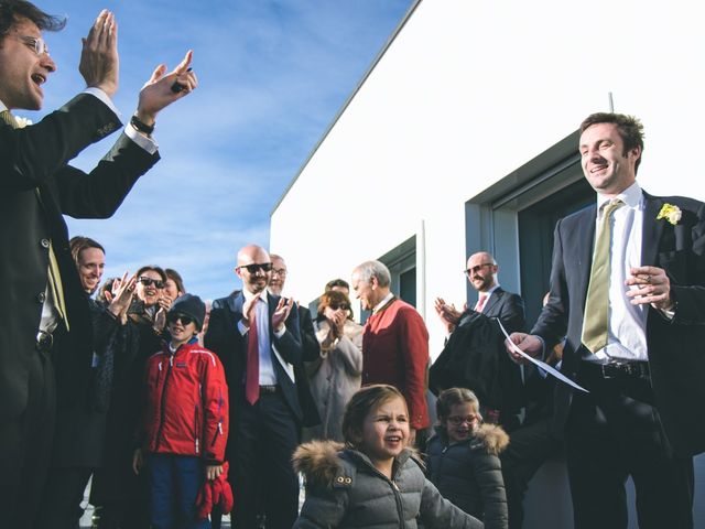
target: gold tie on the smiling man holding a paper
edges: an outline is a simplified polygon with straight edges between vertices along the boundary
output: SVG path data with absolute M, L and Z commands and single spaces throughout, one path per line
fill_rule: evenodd
M 609 247 L 612 239 L 611 216 L 615 209 L 623 206 L 619 198 L 607 203 L 603 208 L 603 219 L 595 237 L 595 253 L 590 269 L 590 283 L 583 317 L 582 341 L 592 353 L 607 345 L 609 324 L 609 276 L 611 271 Z

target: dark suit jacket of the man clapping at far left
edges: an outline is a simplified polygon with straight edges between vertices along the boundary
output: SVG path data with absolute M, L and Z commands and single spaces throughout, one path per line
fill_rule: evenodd
M 0 123 L 0 421 L 17 418 L 26 407 L 29 360 L 35 354 L 50 239 L 70 325 L 62 350 L 55 352 L 59 402 L 62 396 L 80 398 L 90 380 L 90 315 L 62 214 L 75 218 L 111 216 L 159 155 L 149 154 L 121 134 L 90 174 L 67 163 L 119 126 L 117 116 L 88 94 L 31 127 L 13 130 Z

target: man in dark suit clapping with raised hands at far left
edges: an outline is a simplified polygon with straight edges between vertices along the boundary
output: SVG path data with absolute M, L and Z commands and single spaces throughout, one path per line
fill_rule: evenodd
M 88 302 L 72 260 L 62 215 L 115 213 L 159 159 L 156 114 L 196 87 L 191 53 L 169 75 L 159 66 L 140 91 L 131 125 L 86 174 L 68 165 L 120 126 L 117 22 L 102 11 L 84 40 L 78 66 L 86 90 L 39 123 L 14 109 L 39 110 L 56 69 L 43 31 L 64 19 L 24 0 L 0 0 L 0 520 L 29 527 L 48 464 L 56 406 L 85 399 L 93 338 Z M 183 87 L 173 91 L 174 83 Z M 54 367 L 68 374 L 55 379 Z M 58 393 L 57 393 L 58 391 Z M 57 402 L 56 396 L 59 399 Z

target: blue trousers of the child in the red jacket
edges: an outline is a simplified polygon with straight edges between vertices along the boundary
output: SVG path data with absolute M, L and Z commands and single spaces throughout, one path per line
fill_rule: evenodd
M 205 483 L 200 457 L 150 454 L 150 521 L 153 529 L 207 529 L 197 519 L 196 496 Z

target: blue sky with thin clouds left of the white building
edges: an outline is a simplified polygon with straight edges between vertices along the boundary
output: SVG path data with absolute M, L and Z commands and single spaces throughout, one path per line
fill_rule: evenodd
M 80 37 L 100 9 L 119 24 L 120 88 L 129 119 L 142 84 L 188 48 L 199 87 L 160 114 L 162 160 L 107 220 L 67 218 L 70 235 L 107 250 L 106 276 L 142 264 L 175 268 L 188 291 L 219 298 L 238 287 L 237 249 L 269 245 L 269 215 L 412 0 L 51 0 L 68 17 L 45 35 L 58 69 L 36 121 L 84 88 Z M 117 134 L 73 163 L 89 170 Z M 311 228 L 311 227 L 308 227 Z M 311 231 L 308 229 L 308 231 Z

